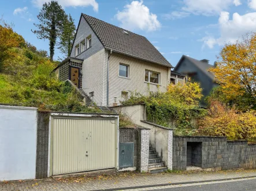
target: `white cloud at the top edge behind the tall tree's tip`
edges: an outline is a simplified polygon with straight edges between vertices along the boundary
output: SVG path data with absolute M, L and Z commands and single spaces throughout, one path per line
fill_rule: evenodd
M 32 0 L 32 3 L 34 3 L 37 7 L 42 7 L 44 3 L 48 3 L 51 0 Z M 77 7 L 77 6 L 92 6 L 95 12 L 98 12 L 99 4 L 95 0 L 55 0 L 58 1 L 58 3 L 62 7 Z

